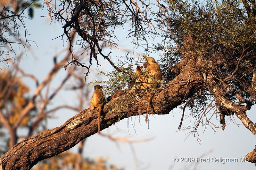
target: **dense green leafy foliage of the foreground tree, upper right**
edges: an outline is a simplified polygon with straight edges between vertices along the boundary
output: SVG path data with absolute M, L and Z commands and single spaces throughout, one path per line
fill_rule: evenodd
M 248 17 L 241 1 L 170 0 L 159 25 L 167 28 L 158 34 L 163 41 L 155 48 L 164 51 L 162 68 L 197 56 L 204 63 L 197 65 L 200 72 L 215 75 L 222 88 L 229 86 L 228 99 L 236 100 L 234 94 L 239 93 L 252 100 L 247 88 L 256 59 L 255 16 Z M 167 79 L 172 78 L 168 72 Z M 208 90 L 202 93 L 207 96 Z

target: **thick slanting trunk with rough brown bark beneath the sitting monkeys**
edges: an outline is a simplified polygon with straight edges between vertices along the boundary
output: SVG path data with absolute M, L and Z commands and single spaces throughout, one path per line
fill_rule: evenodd
M 194 61 L 191 60 L 175 79 L 155 93 L 151 114 L 168 114 L 200 89 L 202 78 L 200 73 L 195 72 L 194 65 Z M 125 94 L 119 98 L 126 97 Z M 104 106 L 101 129 L 106 129 L 121 119 L 143 115 L 147 111 L 148 96 L 139 100 L 133 99 L 136 104 L 127 111 L 122 111 L 121 114 L 119 110 L 111 110 L 116 108 L 117 100 L 111 100 Z M 38 161 L 56 156 L 75 146 L 84 138 L 97 133 L 97 112 L 96 109 L 87 108 L 67 120 L 62 126 L 44 130 L 21 141 L 1 157 L 0 169 L 30 169 Z

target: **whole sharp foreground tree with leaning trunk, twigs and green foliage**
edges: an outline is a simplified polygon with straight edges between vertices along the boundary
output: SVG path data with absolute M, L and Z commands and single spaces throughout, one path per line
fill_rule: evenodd
M 156 8 L 150 8 L 150 5 Z M 92 58 L 97 61 L 98 56 L 102 56 L 114 67 L 114 75 L 117 72 L 124 75 L 125 79 L 120 79 L 121 83 L 117 84 L 128 85 L 125 75 L 136 63 L 123 62 L 116 66 L 110 53 L 103 54 L 102 47 L 114 45 L 111 41 L 115 35 L 113 28 L 131 20 L 131 34 L 128 36 L 135 37 L 135 45 L 141 40 L 146 41 L 146 35 L 163 37 L 163 42 L 153 50 L 163 51 L 161 64 L 165 79 L 152 99 L 151 114 L 168 114 L 182 104 L 184 108 L 190 106 L 191 115 L 197 120 L 187 128 L 192 128 L 196 137 L 199 125 L 217 128 L 211 122 L 213 115 L 220 116 L 224 130 L 225 116 L 235 114 L 256 135 L 255 124 L 246 115 L 255 104 L 254 1 L 244 0 L 242 4 L 240 1 L 187 3 L 174 0 L 155 4 L 145 4 L 144 1 L 65 1 L 60 10 L 49 6 L 51 17 L 63 22 L 63 35 L 69 39 L 71 30 L 78 32 L 80 44 L 89 55 L 87 65 L 73 56 L 65 68 L 76 63 L 86 67 L 88 73 Z M 70 39 L 69 51 L 73 53 L 71 47 Z M 146 48 L 146 52 L 148 50 Z M 114 75 L 110 76 L 111 80 Z M 148 93 L 141 98 L 129 94 L 112 98 L 103 109 L 101 129 L 121 119 L 145 114 L 147 103 Z M 85 109 L 62 126 L 21 141 L 1 158 L 2 168 L 28 169 L 39 160 L 55 156 L 96 133 L 95 112 Z M 31 148 L 35 145 L 37 147 Z M 47 147 L 49 145 L 53 148 Z M 254 150 L 247 156 L 251 162 L 256 162 Z

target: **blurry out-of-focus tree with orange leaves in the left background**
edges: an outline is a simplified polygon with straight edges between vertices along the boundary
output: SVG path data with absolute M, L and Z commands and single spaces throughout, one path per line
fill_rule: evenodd
M 62 81 L 57 88 L 52 87 L 52 82 L 61 69 L 61 65 L 58 63 L 58 58 L 54 57 L 54 66 L 41 82 L 35 75 L 25 73 L 20 67 L 19 63 L 15 63 L 15 60 L 21 60 L 24 53 L 14 58 L 10 58 L 9 61 L 14 63 L 9 64 L 9 69 L 2 70 L 0 75 L 0 131 L 1 131 L 1 153 L 2 156 L 8 149 L 11 149 L 19 140 L 31 137 L 38 133 L 42 129 L 45 129 L 45 122 L 48 118 L 53 117 L 54 113 L 60 109 L 72 109 L 80 111 L 84 108 L 85 100 L 88 97 L 88 89 L 85 89 L 85 82 L 82 74 L 78 74 L 75 68 L 69 70 L 63 77 Z M 61 55 L 61 54 L 58 54 Z M 70 53 L 64 56 L 61 62 L 67 60 L 70 57 Z M 24 57 L 24 56 L 23 56 Z M 29 87 L 23 83 L 22 78 L 30 78 L 35 83 L 35 92 L 33 95 L 29 95 Z M 72 80 L 75 83 L 71 83 Z M 69 82 L 69 83 L 68 83 Z M 67 85 L 69 84 L 69 85 Z M 77 95 L 78 106 L 72 106 L 63 103 L 57 107 L 49 107 L 52 104 L 54 97 L 66 86 L 67 90 L 79 91 L 80 95 Z M 67 87 L 68 86 L 68 87 Z M 23 115 L 24 114 L 24 115 Z M 23 118 L 21 118 L 21 116 Z M 19 122 L 18 122 L 19 121 Z M 20 134 L 19 130 L 26 129 L 27 134 Z M 7 130 L 7 131 L 6 131 Z M 79 148 L 82 152 L 84 141 L 81 141 Z M 80 146 L 81 145 L 81 146 Z M 67 152 L 65 155 L 74 158 L 76 161 L 72 164 L 79 166 L 80 162 L 83 162 L 81 152 L 74 154 Z M 58 161 L 62 157 L 56 158 Z M 49 161 L 51 162 L 51 161 Z M 95 162 L 84 160 L 84 164 L 88 167 L 97 166 Z M 103 160 L 102 160 L 103 162 Z M 48 165 L 49 164 L 49 165 Z M 78 165 L 77 165 L 78 164 Z M 52 166 L 51 163 L 43 163 L 37 168 Z M 54 166 L 54 165 L 53 165 Z M 76 169 L 81 169 L 76 167 Z

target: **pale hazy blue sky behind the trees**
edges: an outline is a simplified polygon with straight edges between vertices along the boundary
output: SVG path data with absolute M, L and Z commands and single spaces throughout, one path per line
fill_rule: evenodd
M 24 57 L 20 63 L 22 69 L 27 73 L 35 74 L 40 80 L 42 80 L 47 71 L 51 69 L 53 56 L 63 50 L 60 38 L 52 40 L 62 34 L 62 25 L 60 23 L 51 23 L 50 25 L 49 18 L 40 17 L 43 15 L 47 15 L 46 10 L 37 10 L 33 20 L 27 20 L 27 29 L 29 34 L 31 34 L 28 38 L 36 41 L 38 46 L 37 49 L 37 47 L 32 44 L 33 53 L 36 58 L 28 51 L 27 57 Z M 123 32 L 117 34 L 124 35 Z M 118 44 L 122 48 L 133 50 L 131 40 L 126 41 L 125 38 L 122 38 Z M 65 42 L 64 45 L 66 45 Z M 143 53 L 143 49 L 135 49 L 134 51 L 139 54 Z M 113 50 L 112 56 L 118 54 L 124 55 L 125 52 Z M 158 58 L 157 56 L 152 57 Z M 99 67 L 100 70 L 112 69 L 106 60 L 104 61 L 101 57 L 99 58 L 99 62 L 103 66 Z M 95 63 L 95 61 L 93 62 Z M 94 70 L 95 67 L 91 69 Z M 94 71 L 96 72 L 96 70 Z M 60 73 L 58 73 L 56 80 L 54 80 L 56 83 L 58 80 L 61 80 L 61 76 L 64 75 L 64 72 L 65 70 L 62 69 Z M 84 72 L 86 72 L 86 69 Z M 90 76 L 88 81 L 94 80 L 94 75 L 91 74 Z M 28 79 L 24 79 L 24 81 L 25 83 L 31 84 L 31 81 Z M 34 83 L 31 84 L 31 89 L 33 88 Z M 91 86 L 88 88 L 91 88 Z M 90 96 L 92 96 L 92 92 Z M 75 104 L 76 101 L 74 99 L 74 94 L 62 91 L 54 99 L 52 104 L 53 106 L 66 102 Z M 89 104 L 89 101 L 87 101 L 87 103 Z M 189 110 L 186 110 L 185 115 L 189 113 Z M 75 114 L 76 112 L 71 110 L 58 111 L 56 118 L 48 121 L 48 128 L 60 126 Z M 246 129 L 235 116 L 233 120 L 235 120 L 239 126 L 228 119 L 226 120 L 228 125 L 224 131 L 218 128 L 218 130 L 214 132 L 210 126 L 208 126 L 208 129 L 200 127 L 198 129 L 200 133 L 199 143 L 193 135 L 188 136 L 189 130 L 178 131 L 181 115 L 181 110 L 177 108 L 171 111 L 169 115 L 150 115 L 148 124 L 145 123 L 145 115 L 121 120 L 110 128 L 102 130 L 102 133 L 110 134 L 115 137 L 127 137 L 128 139 L 155 138 L 149 142 L 131 145 L 126 143 L 114 143 L 105 137 L 95 134 L 87 138 L 83 155 L 92 159 L 103 157 L 107 159 L 109 163 L 119 167 L 125 167 L 127 170 L 168 170 L 193 169 L 196 165 L 195 163 L 181 163 L 180 161 L 175 163 L 174 158 L 177 157 L 180 160 L 181 157 L 190 157 L 197 160 L 197 157 L 201 157 L 203 154 L 211 151 L 211 153 L 203 157 L 210 158 L 210 163 L 199 163 L 197 164 L 197 169 L 239 170 L 255 168 L 252 163 L 240 163 L 240 157 L 243 158 L 248 152 L 251 152 L 256 142 L 253 134 Z M 252 108 L 251 111 L 248 112 L 248 117 L 253 122 L 256 122 L 255 108 Z M 220 125 L 219 116 L 215 116 L 213 119 L 215 119 L 217 125 Z M 192 125 L 194 121 L 195 119 L 189 117 L 183 121 L 183 125 Z M 136 160 L 132 153 L 132 147 L 135 148 Z M 74 148 L 74 150 L 76 150 L 76 148 Z M 238 163 L 213 163 L 212 157 L 234 158 L 238 159 Z

